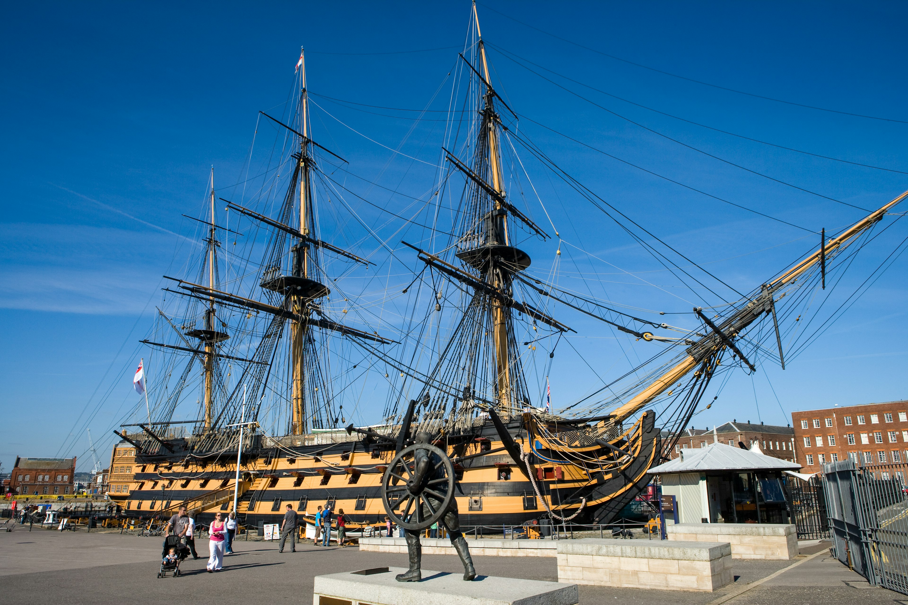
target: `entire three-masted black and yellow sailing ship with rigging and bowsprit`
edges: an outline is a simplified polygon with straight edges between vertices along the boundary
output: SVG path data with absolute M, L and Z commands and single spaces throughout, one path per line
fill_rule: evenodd
M 674 447 L 670 435 L 712 405 L 716 376 L 767 361 L 785 367 L 784 342 L 809 343 L 815 333 L 799 328 L 822 307 L 827 274 L 844 272 L 906 195 L 824 233 L 751 291 L 727 287 L 730 302 L 717 295 L 716 306 L 686 307 L 696 327 L 670 326 L 657 312 L 528 272 L 518 242 L 551 234 L 521 210 L 519 191 L 532 183 L 518 151 L 595 210 L 578 212 L 585 220 L 633 234 L 676 277 L 703 286 L 708 275 L 515 128 L 518 115 L 492 85 L 475 5 L 453 74 L 452 98 L 464 101 L 451 105 L 437 173 L 414 198 L 430 210 L 419 219 L 354 193 L 344 181 L 360 178 L 354 168 L 313 140 L 303 54 L 295 104 L 278 117 L 260 112 L 257 136 L 272 132 L 274 142 L 258 190 L 222 197 L 212 171 L 200 248 L 182 277 L 169 278 L 143 340 L 153 352 L 149 399 L 116 432 L 109 495 L 125 514 L 167 516 L 185 504 L 202 522 L 235 510 L 260 525 L 277 522 L 287 503 L 309 518 L 327 503 L 353 527 L 382 524 L 382 476 L 425 433 L 458 461 L 468 528 L 610 522 Z M 353 197 L 412 237 L 379 236 L 345 201 Z M 321 232 L 327 223 L 332 237 Z M 389 285 L 392 265 L 407 268 L 404 288 Z M 709 278 L 704 288 L 715 288 Z M 556 410 L 533 391 L 548 384 L 539 376 L 574 332 L 570 317 L 628 335 L 646 361 Z

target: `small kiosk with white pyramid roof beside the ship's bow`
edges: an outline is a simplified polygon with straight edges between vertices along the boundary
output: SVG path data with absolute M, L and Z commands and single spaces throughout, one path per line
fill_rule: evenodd
M 649 470 L 674 496 L 681 523 L 787 523 L 790 498 L 784 471 L 800 464 L 767 456 L 759 445 L 745 450 L 725 444 L 682 450 L 682 456 Z M 666 514 L 666 522 L 672 515 Z

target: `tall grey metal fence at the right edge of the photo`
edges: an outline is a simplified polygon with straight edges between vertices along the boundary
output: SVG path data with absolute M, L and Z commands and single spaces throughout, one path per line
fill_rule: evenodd
M 881 456 L 882 457 L 882 456 Z M 908 488 L 904 464 L 824 466 L 836 558 L 873 586 L 908 594 Z

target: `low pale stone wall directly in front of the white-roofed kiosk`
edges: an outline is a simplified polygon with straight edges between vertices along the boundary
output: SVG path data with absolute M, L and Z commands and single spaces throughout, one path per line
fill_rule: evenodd
M 797 528 L 785 523 L 678 523 L 666 526 L 668 540 L 728 542 L 735 559 L 791 560 L 797 556 Z

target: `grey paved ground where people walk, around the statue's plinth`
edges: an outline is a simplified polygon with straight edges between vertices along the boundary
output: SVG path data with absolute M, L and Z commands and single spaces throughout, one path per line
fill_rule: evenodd
M 183 576 L 158 579 L 161 538 L 85 532 L 53 532 L 17 527 L 0 532 L 0 592 L 6 602 L 131 603 L 181 602 L 201 605 L 249 605 L 251 602 L 309 602 L 312 579 L 323 573 L 384 565 L 406 567 L 407 555 L 360 552 L 298 544 L 298 551 L 278 553 L 276 542 L 236 542 L 236 554 L 225 557 L 224 571 L 205 573 L 205 558 L 184 561 Z M 205 540 L 197 540 L 200 554 Z M 828 542 L 805 547 L 804 554 L 827 551 Z M 580 587 L 583 605 L 628 602 L 670 602 L 709 605 L 788 567 L 794 561 L 735 561 L 735 583 L 712 593 Z M 476 557 L 483 575 L 558 580 L 555 559 Z M 459 559 L 425 555 L 431 570 L 459 571 Z M 730 605 L 771 603 L 786 605 L 877 605 L 908 602 L 908 597 L 884 589 L 860 589 L 864 579 L 841 563 L 821 554 L 731 600 Z

